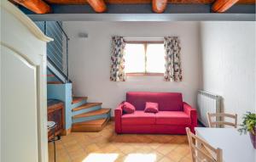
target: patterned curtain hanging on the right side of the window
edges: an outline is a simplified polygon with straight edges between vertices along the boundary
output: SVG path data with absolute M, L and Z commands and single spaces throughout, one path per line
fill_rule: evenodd
M 164 45 L 166 50 L 165 81 L 182 81 L 182 69 L 179 40 L 177 36 L 166 36 Z

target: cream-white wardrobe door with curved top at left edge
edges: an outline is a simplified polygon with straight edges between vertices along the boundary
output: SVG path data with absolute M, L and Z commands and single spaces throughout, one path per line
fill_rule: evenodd
M 3 162 L 37 162 L 37 66 L 2 45 L 1 88 Z

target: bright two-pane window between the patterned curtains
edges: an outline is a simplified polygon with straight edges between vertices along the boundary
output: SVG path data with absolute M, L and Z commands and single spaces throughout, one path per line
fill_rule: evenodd
M 165 71 L 164 43 L 138 42 L 125 45 L 126 74 L 162 74 Z

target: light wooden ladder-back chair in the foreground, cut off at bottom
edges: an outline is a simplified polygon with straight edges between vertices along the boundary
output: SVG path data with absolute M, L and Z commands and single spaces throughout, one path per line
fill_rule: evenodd
M 186 131 L 193 162 L 223 162 L 222 149 L 213 148 L 200 137 L 195 136 L 188 127 Z

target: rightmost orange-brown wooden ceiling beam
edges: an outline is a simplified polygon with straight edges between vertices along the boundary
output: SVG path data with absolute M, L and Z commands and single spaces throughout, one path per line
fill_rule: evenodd
M 212 11 L 216 13 L 224 13 L 238 1 L 239 0 L 216 0 L 212 4 Z

